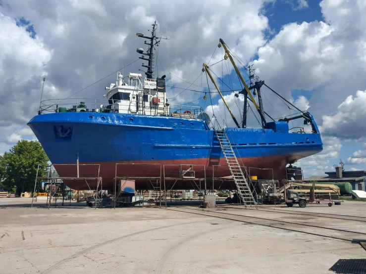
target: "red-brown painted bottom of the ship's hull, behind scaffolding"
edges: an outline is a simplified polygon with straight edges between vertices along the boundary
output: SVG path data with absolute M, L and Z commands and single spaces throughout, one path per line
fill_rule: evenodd
M 274 179 L 282 180 L 286 178 L 286 165 L 294 163 L 297 159 L 296 155 L 289 156 L 272 156 L 272 157 L 256 157 L 256 158 L 238 158 L 241 166 L 247 167 L 247 172 L 251 176 L 257 176 L 258 179 Z M 81 179 L 81 178 L 102 178 L 103 189 L 114 189 L 115 177 L 128 177 L 136 181 L 136 189 L 153 189 L 159 183 L 154 177 L 165 178 L 166 189 L 197 189 L 200 186 L 204 189 L 206 175 L 207 189 L 234 189 L 230 180 L 214 180 L 212 177 L 221 178 L 230 176 L 230 171 L 226 165 L 224 158 L 218 159 L 187 159 L 187 160 L 167 160 L 167 161 L 151 161 L 150 163 L 118 163 L 103 162 L 100 166 L 96 163 L 80 163 L 79 178 L 67 179 L 64 182 L 72 189 L 89 190 L 97 188 L 97 179 Z M 188 165 L 194 165 L 195 180 L 174 180 L 167 178 L 179 178 L 179 165 L 187 165 L 183 170 L 188 169 Z M 77 177 L 76 164 L 54 165 L 60 177 Z M 249 168 L 250 167 L 250 168 Z M 261 170 L 260 170 L 261 169 Z M 267 170 L 265 170 L 267 169 Z M 189 175 L 189 174 L 187 174 Z M 199 179 L 202 179 L 201 181 Z M 163 188 L 164 180 L 161 180 Z M 213 184 L 213 185 L 212 185 Z M 99 189 L 101 185 L 99 185 Z

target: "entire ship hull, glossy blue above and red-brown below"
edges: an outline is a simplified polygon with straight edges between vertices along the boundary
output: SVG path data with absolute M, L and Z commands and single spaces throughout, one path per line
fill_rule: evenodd
M 112 188 L 116 163 L 204 165 L 201 171 L 196 172 L 196 177 L 204 177 L 204 173 L 211 177 L 212 166 L 219 166 L 214 168 L 214 177 L 230 176 L 214 131 L 209 130 L 203 120 L 65 112 L 37 115 L 28 125 L 52 164 L 73 164 L 56 167 L 61 177 L 76 177 L 74 164 L 79 159 L 79 164 L 100 165 L 103 188 Z M 242 161 L 246 167 L 273 169 L 274 179 L 286 178 L 287 164 L 322 150 L 319 134 L 293 134 L 275 129 L 225 130 L 233 147 L 235 144 L 239 162 Z M 175 170 L 176 167 L 172 167 L 170 171 Z M 96 166 L 80 166 L 79 172 L 80 177 L 95 177 L 98 174 Z M 157 177 L 160 168 L 135 165 L 133 168 L 129 166 L 128 172 L 135 172 L 138 177 Z M 90 183 L 80 181 L 69 181 L 67 184 L 74 189 L 90 187 Z M 146 189 L 144 185 L 146 182 L 142 180 L 136 189 Z M 192 188 L 191 183 L 189 186 Z M 184 188 L 184 185 L 178 184 L 177 187 Z

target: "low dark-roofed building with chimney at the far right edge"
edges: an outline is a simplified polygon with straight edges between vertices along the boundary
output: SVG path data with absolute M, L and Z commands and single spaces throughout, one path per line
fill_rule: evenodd
M 366 171 L 342 171 L 342 167 L 336 167 L 335 171 L 325 172 L 328 176 L 312 176 L 305 178 L 304 182 L 350 182 L 353 190 L 366 190 Z

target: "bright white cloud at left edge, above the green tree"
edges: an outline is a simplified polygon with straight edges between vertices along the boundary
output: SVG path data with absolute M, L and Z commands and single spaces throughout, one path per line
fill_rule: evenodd
M 42 75 L 52 58 L 50 50 L 26 27 L 0 10 L 0 151 L 3 154 L 18 140 L 34 138 L 26 126 L 37 111 Z

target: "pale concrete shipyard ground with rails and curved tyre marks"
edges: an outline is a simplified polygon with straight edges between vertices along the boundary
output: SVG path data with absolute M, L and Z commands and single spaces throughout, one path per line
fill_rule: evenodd
M 290 212 L 365 218 L 366 202 L 309 205 L 305 209 L 264 207 L 269 211 L 275 208 L 273 213 L 233 205 L 203 211 L 190 202 L 180 206 L 172 203 L 178 206 L 167 210 L 95 210 L 75 202 L 71 207 L 47 209 L 39 207 L 40 202 L 29 208 L 30 201 L 0 199 L 0 273 L 325 274 L 332 273 L 328 269 L 338 259 L 366 258 L 365 249 L 357 241 L 337 239 L 346 237 L 347 232 L 333 230 L 330 235 L 335 237 L 331 238 L 315 235 L 318 231 L 313 227 L 296 232 L 245 223 L 252 221 L 248 217 L 242 221 L 223 219 L 232 219 L 235 214 L 340 228 L 365 233 L 358 239 L 362 240 L 366 239 L 363 221 Z M 280 210 L 287 213 L 278 213 Z M 220 212 L 221 217 L 198 215 L 210 212 Z M 291 225 L 287 228 L 292 229 Z

